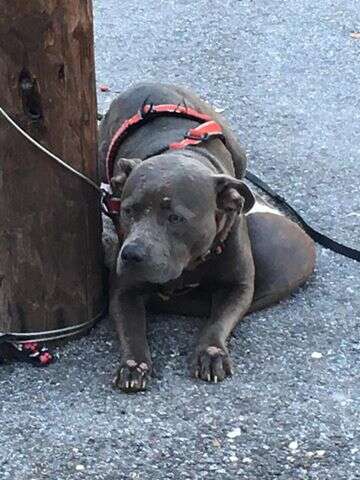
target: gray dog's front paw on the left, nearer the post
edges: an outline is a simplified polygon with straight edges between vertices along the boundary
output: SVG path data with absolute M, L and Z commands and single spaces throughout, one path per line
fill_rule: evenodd
M 136 362 L 129 359 L 121 363 L 113 385 L 127 393 L 139 392 L 146 389 L 150 374 L 150 362 Z

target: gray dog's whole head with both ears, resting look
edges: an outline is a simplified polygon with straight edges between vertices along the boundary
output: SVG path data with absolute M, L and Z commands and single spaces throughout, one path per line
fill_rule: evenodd
M 151 283 L 178 278 L 209 251 L 229 215 L 254 203 L 245 183 L 179 152 L 120 159 L 111 186 L 121 197 L 124 233 L 117 274 Z

